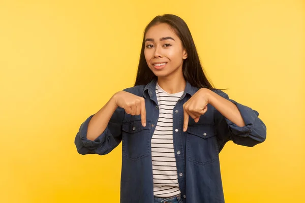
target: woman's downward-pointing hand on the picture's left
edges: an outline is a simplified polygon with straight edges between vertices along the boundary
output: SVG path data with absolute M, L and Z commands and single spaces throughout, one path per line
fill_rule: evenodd
M 141 115 L 142 125 L 146 126 L 145 99 L 126 91 L 119 91 L 113 95 L 116 106 L 123 108 L 127 114 Z

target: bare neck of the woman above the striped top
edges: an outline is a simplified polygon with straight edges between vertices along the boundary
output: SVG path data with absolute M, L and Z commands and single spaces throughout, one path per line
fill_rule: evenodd
M 183 77 L 158 77 L 159 86 L 169 94 L 182 92 L 186 88 L 186 80 Z

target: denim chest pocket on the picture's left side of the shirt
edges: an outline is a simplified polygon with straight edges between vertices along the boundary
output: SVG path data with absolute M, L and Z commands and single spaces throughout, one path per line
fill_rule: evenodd
M 123 122 L 123 156 L 139 160 L 149 155 L 151 121 L 146 120 L 143 127 L 141 120 Z

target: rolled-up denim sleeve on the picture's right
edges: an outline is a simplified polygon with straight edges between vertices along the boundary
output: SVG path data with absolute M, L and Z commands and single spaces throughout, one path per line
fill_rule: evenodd
M 225 118 L 217 109 L 214 109 L 214 119 L 218 132 L 220 150 L 224 144 L 232 140 L 238 145 L 253 147 L 266 139 L 266 125 L 258 118 L 259 113 L 247 106 L 241 105 L 229 98 L 223 91 L 217 93 L 230 100 L 239 110 L 245 126 L 239 127 L 229 119 Z

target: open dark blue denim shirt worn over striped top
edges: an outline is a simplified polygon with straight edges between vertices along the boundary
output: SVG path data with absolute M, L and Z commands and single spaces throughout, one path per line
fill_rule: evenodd
M 95 141 L 86 139 L 88 122 L 93 115 L 81 124 L 76 134 L 75 145 L 82 155 L 108 154 L 122 142 L 121 203 L 154 203 L 150 141 L 159 118 L 155 89 L 156 79 L 153 79 L 146 86 L 124 90 L 145 98 L 145 127 L 141 124 L 140 115 L 132 116 L 118 107 L 105 131 Z M 212 90 L 237 106 L 246 125 L 235 125 L 208 104 L 207 112 L 200 117 L 199 122 L 196 123 L 190 117 L 188 129 L 184 132 L 182 105 L 198 90 L 187 82 L 184 94 L 173 109 L 173 144 L 178 183 L 184 203 L 220 203 L 224 202 L 224 194 L 219 152 L 228 141 L 248 147 L 262 143 L 266 139 L 266 126 L 258 118 L 257 111 L 229 99 L 221 90 Z

